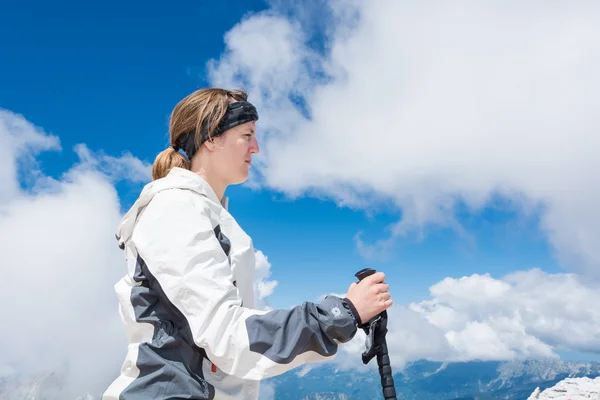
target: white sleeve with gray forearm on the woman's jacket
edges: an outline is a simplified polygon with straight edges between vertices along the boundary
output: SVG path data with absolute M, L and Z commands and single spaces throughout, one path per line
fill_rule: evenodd
M 263 379 L 333 357 L 357 330 L 354 307 L 320 304 L 262 311 L 242 306 L 207 200 L 186 190 L 155 195 L 132 241 L 155 284 L 182 316 L 191 340 L 222 371 Z

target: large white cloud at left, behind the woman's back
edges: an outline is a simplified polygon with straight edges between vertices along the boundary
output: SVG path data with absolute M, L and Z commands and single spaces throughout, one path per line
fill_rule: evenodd
M 11 327 L 0 332 L 3 374 L 62 371 L 68 383 L 57 396 L 101 392 L 126 349 L 112 289 L 123 273 L 113 183 L 148 179 L 149 168 L 80 145 L 80 162 L 48 177 L 35 155 L 60 150 L 59 139 L 8 111 L 0 114 L 0 149 L 0 186 L 9 188 L 0 202 L 0 317 Z M 127 175 L 102 173 L 106 163 Z

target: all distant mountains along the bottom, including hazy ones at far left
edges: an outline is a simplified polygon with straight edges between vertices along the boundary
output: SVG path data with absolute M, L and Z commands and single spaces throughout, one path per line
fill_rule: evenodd
M 306 372 L 296 368 L 265 380 L 277 400 L 379 399 L 381 384 L 375 364 L 367 372 L 338 370 L 333 363 Z M 398 399 L 526 400 L 569 378 L 600 377 L 600 363 L 561 360 L 415 361 L 394 373 Z M 0 377 L 0 400 L 97 400 L 100 393 L 71 395 L 58 371 L 23 377 Z M 68 394 L 68 396 L 67 396 Z M 544 397 L 540 397 L 544 399 Z

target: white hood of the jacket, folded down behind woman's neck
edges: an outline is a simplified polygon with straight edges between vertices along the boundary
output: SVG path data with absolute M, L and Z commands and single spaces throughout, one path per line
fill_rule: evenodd
M 144 186 L 135 203 L 121 219 L 115 234 L 121 249 L 125 247 L 125 243 L 131 238 L 140 213 L 150 204 L 157 193 L 168 189 L 192 190 L 208 197 L 215 203 L 220 203 L 227 209 L 227 197 L 223 197 L 223 200 L 219 201 L 212 187 L 201 176 L 187 169 L 175 167 L 164 178 L 157 179 Z

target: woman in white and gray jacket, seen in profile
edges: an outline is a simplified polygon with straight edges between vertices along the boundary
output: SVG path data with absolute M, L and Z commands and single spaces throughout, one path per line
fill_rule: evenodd
M 345 299 L 254 309 L 252 240 L 224 193 L 248 177 L 256 120 L 246 93 L 224 89 L 198 90 L 173 110 L 171 146 L 117 232 L 128 270 L 115 289 L 129 346 L 105 400 L 256 399 L 261 379 L 333 357 L 391 306 L 376 273 Z

